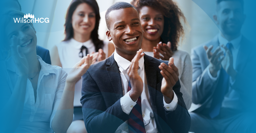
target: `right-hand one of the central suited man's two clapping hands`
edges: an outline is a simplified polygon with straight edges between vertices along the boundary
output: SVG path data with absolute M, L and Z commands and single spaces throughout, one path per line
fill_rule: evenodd
M 166 103 L 171 103 L 173 100 L 174 93 L 172 87 L 179 80 L 179 71 L 178 68 L 173 64 L 174 59 L 171 57 L 169 59 L 168 65 L 161 63 L 159 68 L 161 69 L 160 73 L 163 75 L 161 92 L 164 95 L 164 100 Z

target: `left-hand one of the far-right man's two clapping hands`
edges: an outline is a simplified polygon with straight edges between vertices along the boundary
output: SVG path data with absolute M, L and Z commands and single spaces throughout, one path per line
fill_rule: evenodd
M 204 50 L 206 52 L 207 58 L 209 60 L 209 70 L 212 75 L 212 77 L 216 77 L 218 71 L 221 69 L 221 61 L 224 60 L 224 54 L 223 51 L 220 49 L 220 46 L 218 46 L 214 52 L 212 53 L 213 46 L 204 46 Z

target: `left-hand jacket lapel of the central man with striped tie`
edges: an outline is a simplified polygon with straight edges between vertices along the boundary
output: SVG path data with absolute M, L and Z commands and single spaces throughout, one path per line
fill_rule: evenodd
M 107 59 L 107 64 L 110 67 L 107 67 L 106 70 L 108 72 L 109 79 L 111 81 L 112 87 L 116 94 L 117 100 L 123 97 L 123 88 L 122 88 L 122 80 L 119 73 L 118 65 L 114 59 L 114 54 L 112 54 Z

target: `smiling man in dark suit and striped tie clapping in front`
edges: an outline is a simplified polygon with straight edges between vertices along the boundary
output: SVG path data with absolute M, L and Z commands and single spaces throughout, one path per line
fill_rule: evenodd
M 116 51 L 82 76 L 87 132 L 188 133 L 190 116 L 173 58 L 168 62 L 142 53 L 143 29 L 130 3 L 114 3 L 105 19 Z

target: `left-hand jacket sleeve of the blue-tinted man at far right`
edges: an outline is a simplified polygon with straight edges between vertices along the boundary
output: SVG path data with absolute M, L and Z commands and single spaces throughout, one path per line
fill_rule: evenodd
M 191 61 L 193 67 L 192 102 L 202 104 L 214 92 L 218 80 L 212 81 L 207 70 L 202 71 L 202 60 L 199 59 L 194 49 L 191 50 Z

